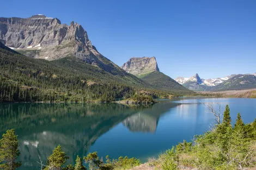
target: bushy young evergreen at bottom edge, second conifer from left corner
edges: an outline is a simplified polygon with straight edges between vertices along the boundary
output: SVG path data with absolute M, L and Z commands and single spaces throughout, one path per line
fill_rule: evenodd
M 60 170 L 62 169 L 62 165 L 69 159 L 66 156 L 65 152 L 63 152 L 62 147 L 58 145 L 53 149 L 52 155 L 48 157 L 46 170 Z

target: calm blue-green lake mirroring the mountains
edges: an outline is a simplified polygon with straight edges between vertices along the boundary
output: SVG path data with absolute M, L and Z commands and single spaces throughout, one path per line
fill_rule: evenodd
M 256 118 L 256 99 L 247 98 L 179 98 L 154 105 L 14 103 L 0 104 L 0 134 L 14 128 L 19 135 L 22 170 L 39 167 L 39 155 L 46 163 L 58 144 L 68 163 L 95 151 L 144 162 L 214 127 L 208 104 L 223 110 L 228 104 L 232 123 L 238 112 L 245 123 Z

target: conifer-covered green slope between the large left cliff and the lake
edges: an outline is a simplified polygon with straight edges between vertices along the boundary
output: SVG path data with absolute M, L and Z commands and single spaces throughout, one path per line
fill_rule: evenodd
M 47 61 L 0 47 L 0 102 L 111 102 L 141 90 L 179 92 L 153 89 L 120 68 L 106 72 L 71 56 Z

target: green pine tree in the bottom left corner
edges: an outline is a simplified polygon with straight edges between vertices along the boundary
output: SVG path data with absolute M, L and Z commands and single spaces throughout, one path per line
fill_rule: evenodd
M 16 162 L 20 154 L 18 146 L 14 129 L 7 130 L 0 140 L 0 169 L 14 170 L 21 166 L 21 162 Z

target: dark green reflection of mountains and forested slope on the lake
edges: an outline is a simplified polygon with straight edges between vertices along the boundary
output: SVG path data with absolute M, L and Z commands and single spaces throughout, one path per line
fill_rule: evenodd
M 14 128 L 19 135 L 23 168 L 38 167 L 39 156 L 45 162 L 58 144 L 72 163 L 121 122 L 131 131 L 154 133 L 160 115 L 176 105 L 1 104 L 0 133 Z

